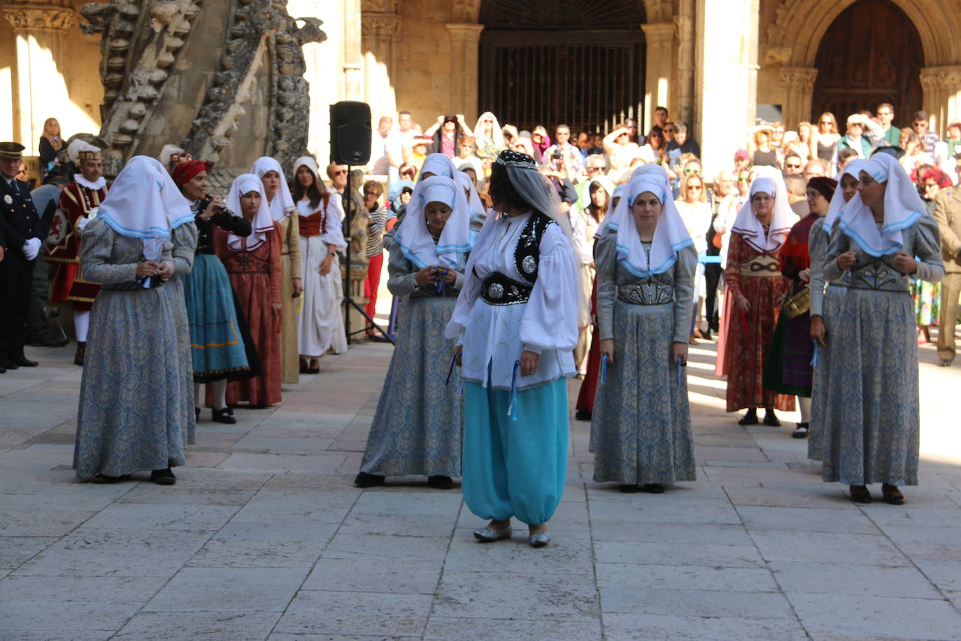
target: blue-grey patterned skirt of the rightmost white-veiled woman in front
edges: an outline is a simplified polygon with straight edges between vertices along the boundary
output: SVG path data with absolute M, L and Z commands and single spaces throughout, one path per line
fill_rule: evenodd
M 848 289 L 839 302 L 828 309 L 825 296 L 829 385 L 815 382 L 815 395 L 823 393 L 817 404 L 822 478 L 916 485 L 921 430 L 914 302 L 906 292 L 866 289 Z

